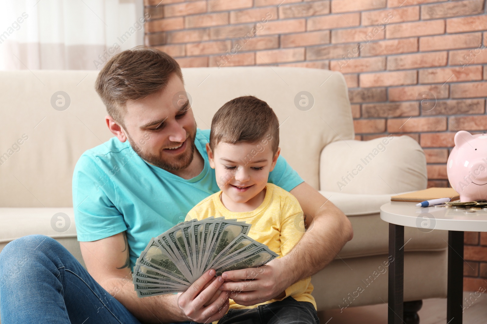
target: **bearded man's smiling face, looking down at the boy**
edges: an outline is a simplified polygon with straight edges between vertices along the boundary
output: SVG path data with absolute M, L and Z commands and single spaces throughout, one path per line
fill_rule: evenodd
M 131 147 L 150 164 L 179 171 L 193 160 L 196 121 L 183 82 L 175 73 L 161 91 L 128 101 L 124 123 Z

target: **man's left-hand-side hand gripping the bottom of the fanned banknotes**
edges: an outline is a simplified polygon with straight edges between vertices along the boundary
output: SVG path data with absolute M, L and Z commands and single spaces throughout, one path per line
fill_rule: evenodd
M 189 288 L 178 294 L 178 306 L 192 321 L 211 323 L 219 320 L 228 309 L 229 291 L 220 291 L 224 279 L 214 278 L 213 269 L 204 273 Z

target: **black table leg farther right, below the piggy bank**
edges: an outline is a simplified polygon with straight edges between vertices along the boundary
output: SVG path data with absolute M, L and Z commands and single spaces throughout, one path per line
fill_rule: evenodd
M 463 300 L 463 235 L 448 231 L 448 298 L 447 323 L 462 323 Z

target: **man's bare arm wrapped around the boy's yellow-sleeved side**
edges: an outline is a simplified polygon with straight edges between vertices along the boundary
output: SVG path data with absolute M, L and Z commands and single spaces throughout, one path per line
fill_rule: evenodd
M 250 306 L 282 297 L 289 286 L 333 261 L 343 245 L 353 238 L 352 224 L 345 214 L 317 190 L 303 182 L 290 192 L 298 199 L 306 216 L 307 230 L 286 256 L 272 260 L 263 269 L 222 274 L 229 282 L 220 289 L 233 291 L 230 298 L 240 305 Z

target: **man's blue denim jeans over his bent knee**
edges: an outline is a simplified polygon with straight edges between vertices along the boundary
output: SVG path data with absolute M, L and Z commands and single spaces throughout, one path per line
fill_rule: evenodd
M 141 324 L 55 239 L 29 235 L 0 253 L 1 324 Z

